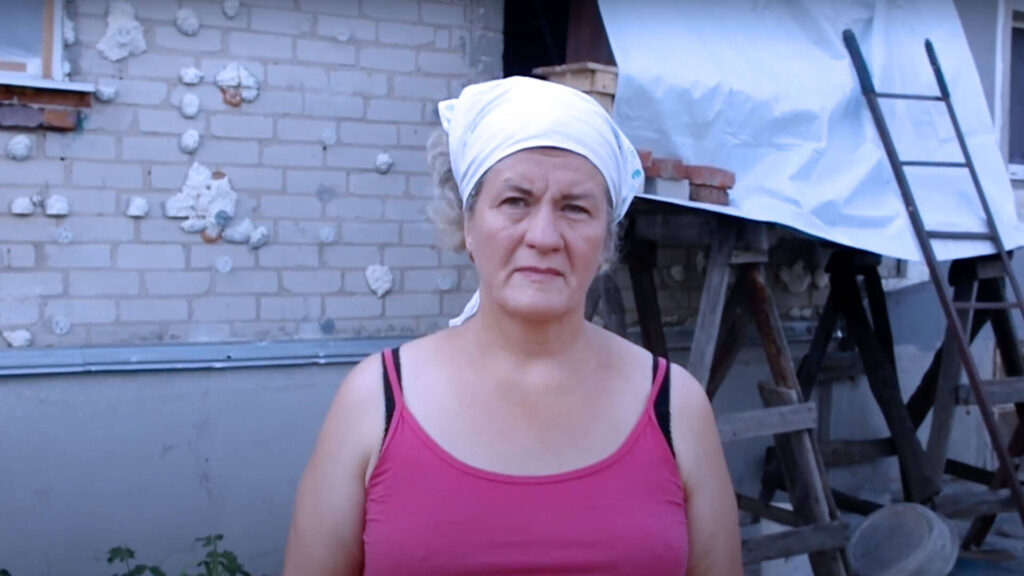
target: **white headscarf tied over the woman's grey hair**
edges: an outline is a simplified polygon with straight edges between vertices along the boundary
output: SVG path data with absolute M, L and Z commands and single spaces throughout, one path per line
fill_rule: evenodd
M 467 86 L 437 110 L 463 206 L 492 166 L 528 148 L 560 148 L 590 160 L 608 184 L 615 221 L 643 191 L 636 149 L 594 98 L 568 86 L 513 76 Z M 477 291 L 449 325 L 465 322 L 479 303 Z

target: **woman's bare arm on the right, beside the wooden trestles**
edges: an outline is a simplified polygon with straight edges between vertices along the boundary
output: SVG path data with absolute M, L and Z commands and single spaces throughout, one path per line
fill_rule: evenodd
M 686 490 L 687 576 L 741 576 L 739 513 L 715 414 L 703 387 L 672 365 L 672 442 Z

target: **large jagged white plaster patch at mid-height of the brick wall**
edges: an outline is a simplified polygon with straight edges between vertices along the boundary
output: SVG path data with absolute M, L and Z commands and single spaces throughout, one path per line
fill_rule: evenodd
M 239 195 L 231 190 L 231 181 L 223 172 L 194 162 L 181 192 L 164 203 L 164 214 L 169 218 L 185 218 L 181 230 L 204 232 L 207 228 L 223 228 L 234 217 Z

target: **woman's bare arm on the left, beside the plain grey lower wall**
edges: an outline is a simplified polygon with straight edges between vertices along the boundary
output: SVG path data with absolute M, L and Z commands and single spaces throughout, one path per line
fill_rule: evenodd
M 380 356 L 349 372 L 321 428 L 295 498 L 284 576 L 362 572 L 366 478 L 384 430 Z

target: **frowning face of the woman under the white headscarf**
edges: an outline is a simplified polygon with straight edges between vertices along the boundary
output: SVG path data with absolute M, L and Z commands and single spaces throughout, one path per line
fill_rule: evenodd
M 582 311 L 605 247 L 606 188 L 589 160 L 561 149 L 492 166 L 465 227 L 484 298 L 526 320 Z

